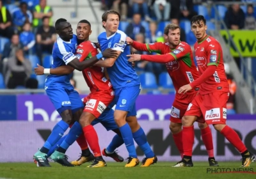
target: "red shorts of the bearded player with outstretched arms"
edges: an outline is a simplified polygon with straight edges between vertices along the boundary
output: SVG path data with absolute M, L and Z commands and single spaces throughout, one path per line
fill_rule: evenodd
M 181 95 L 176 93 L 175 99 L 172 104 L 172 111 L 170 116 L 170 121 L 173 123 L 181 123 L 181 119 L 186 113 L 188 109 L 188 105 L 192 102 L 193 98 L 195 98 L 197 93 L 193 93 L 191 95 Z

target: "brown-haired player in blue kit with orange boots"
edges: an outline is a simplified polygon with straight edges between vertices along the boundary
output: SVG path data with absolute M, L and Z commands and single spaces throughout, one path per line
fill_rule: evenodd
M 136 118 L 135 102 L 140 94 L 140 79 L 132 68 L 132 63 L 128 61 L 127 55 L 131 54 L 130 47 L 125 42 L 127 35 L 118 30 L 119 21 L 120 14 L 115 10 L 109 10 L 102 15 L 102 26 L 106 31 L 98 36 L 100 48 L 102 51 L 112 48 L 118 51 L 118 57 L 106 58 L 103 61 L 98 61 L 95 65 L 107 67 L 109 78 L 115 90 L 114 118 L 129 152 L 125 167 L 134 167 L 139 164 L 133 139 L 146 156 L 142 160 L 141 166 L 147 167 L 156 163 L 157 157 L 152 152 L 145 132 Z

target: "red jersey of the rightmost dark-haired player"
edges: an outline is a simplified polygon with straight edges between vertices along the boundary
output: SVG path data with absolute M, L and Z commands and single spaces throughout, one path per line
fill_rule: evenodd
M 209 65 L 216 65 L 215 73 L 200 86 L 200 94 L 215 91 L 229 92 L 227 76 L 223 64 L 223 52 L 220 43 L 212 36 L 206 36 L 195 43 L 195 56 L 199 74 L 202 75 Z

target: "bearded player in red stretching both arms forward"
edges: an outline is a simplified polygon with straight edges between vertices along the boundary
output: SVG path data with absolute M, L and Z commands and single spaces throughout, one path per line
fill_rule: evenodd
M 139 43 L 127 37 L 127 43 L 138 51 L 157 52 L 162 55 L 129 55 L 129 61 L 146 60 L 157 63 L 166 63 L 168 74 L 172 78 L 173 86 L 176 91 L 181 86 L 198 79 L 199 74 L 193 61 L 193 52 L 186 42 L 180 42 L 180 27 L 175 24 L 168 24 L 164 28 L 164 38 L 166 43 L 157 42 L 151 44 Z M 189 103 L 195 98 L 198 88 L 195 88 L 187 94 L 176 93 L 175 100 L 172 105 L 170 117 L 170 130 L 173 134 L 173 140 L 179 149 L 181 157 L 183 157 L 182 144 L 182 123 L 181 118 L 184 116 Z M 202 139 L 209 154 L 209 165 L 218 166 L 218 162 L 214 159 L 212 134 L 206 123 L 198 123 L 201 129 Z

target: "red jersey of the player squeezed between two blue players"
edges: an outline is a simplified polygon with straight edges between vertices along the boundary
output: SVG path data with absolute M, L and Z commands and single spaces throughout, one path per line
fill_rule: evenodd
M 98 54 L 97 48 L 89 40 L 78 45 L 76 56 L 79 61 L 90 59 Z M 84 80 L 90 88 L 90 91 L 108 90 L 112 88 L 111 82 L 104 76 L 103 68 L 99 66 L 91 66 L 83 70 Z

